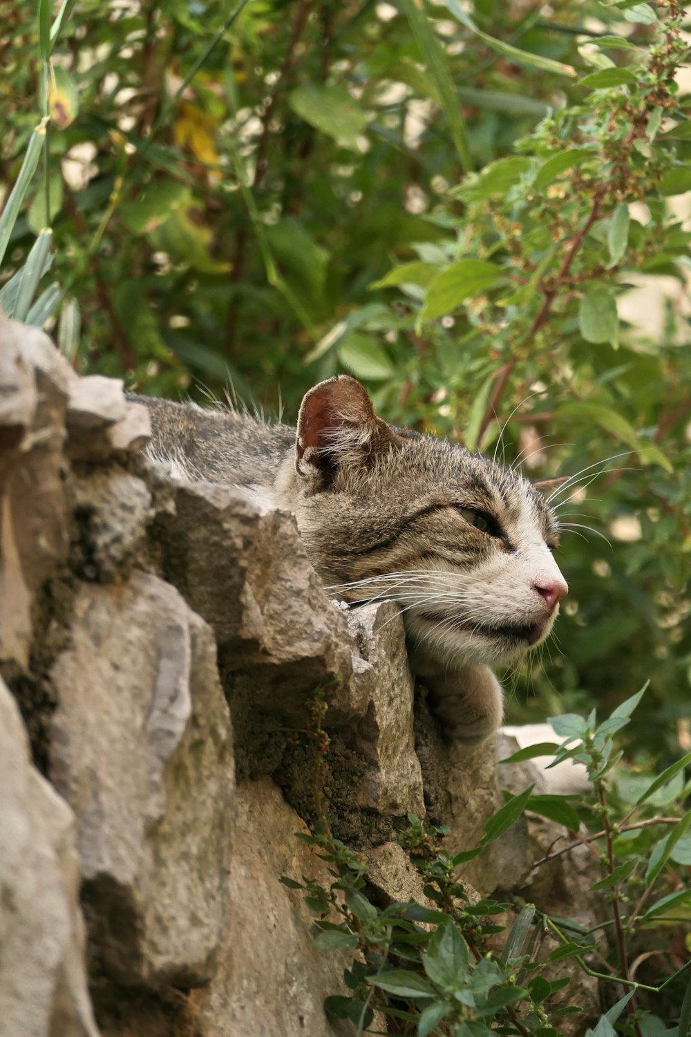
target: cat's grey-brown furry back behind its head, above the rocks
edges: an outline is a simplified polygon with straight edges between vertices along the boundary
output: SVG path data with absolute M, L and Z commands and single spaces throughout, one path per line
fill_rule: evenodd
M 132 398 L 151 415 L 149 457 L 180 478 L 270 487 L 294 443 L 294 429 L 230 409 Z

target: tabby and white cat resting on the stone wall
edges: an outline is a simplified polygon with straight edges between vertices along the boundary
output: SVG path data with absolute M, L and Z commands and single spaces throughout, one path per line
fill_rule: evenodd
M 541 644 L 568 592 L 552 555 L 555 480 L 531 483 L 388 425 L 349 375 L 307 393 L 296 430 L 137 398 L 151 412 L 152 459 L 292 511 L 330 595 L 400 605 L 411 669 L 445 728 L 469 745 L 494 734 L 502 694 L 492 667 Z

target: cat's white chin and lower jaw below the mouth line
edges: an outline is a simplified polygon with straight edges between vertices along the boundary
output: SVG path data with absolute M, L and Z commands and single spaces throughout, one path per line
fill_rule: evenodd
M 542 619 L 483 626 L 410 610 L 404 614 L 404 621 L 411 643 L 411 666 L 423 673 L 468 664 L 492 667 L 509 663 L 542 644 L 557 612 L 558 607 Z

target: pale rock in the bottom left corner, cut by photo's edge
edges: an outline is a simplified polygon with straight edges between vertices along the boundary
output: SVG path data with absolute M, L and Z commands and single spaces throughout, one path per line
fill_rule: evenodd
M 0 680 L 0 1037 L 96 1037 L 75 818 L 29 760 Z

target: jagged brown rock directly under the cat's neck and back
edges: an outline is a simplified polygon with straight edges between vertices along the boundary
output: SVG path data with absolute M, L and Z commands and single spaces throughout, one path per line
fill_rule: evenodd
M 292 515 L 238 489 L 180 483 L 163 516 L 166 577 L 212 627 L 257 706 L 305 720 L 306 696 L 351 673 L 347 621 L 307 560 Z

